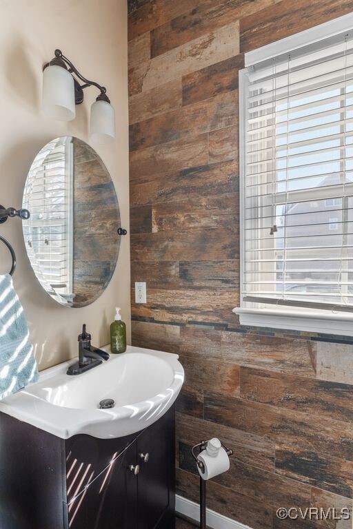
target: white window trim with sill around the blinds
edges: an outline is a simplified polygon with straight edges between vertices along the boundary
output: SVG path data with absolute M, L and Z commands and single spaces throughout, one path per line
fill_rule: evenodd
M 257 48 L 245 53 L 245 68 L 271 59 L 283 53 L 290 52 L 304 45 L 310 45 L 333 37 L 335 34 L 352 30 L 353 13 L 346 14 L 332 21 L 317 25 L 314 28 L 294 34 L 281 41 L 276 41 L 262 48 Z M 246 83 L 248 78 L 246 70 L 239 71 L 239 127 L 245 123 L 246 109 Z M 240 292 L 243 289 L 244 278 L 244 203 L 245 203 L 245 137 L 240 129 L 239 134 L 239 180 L 240 180 Z M 254 306 L 254 304 L 253 304 Z M 328 333 L 334 335 L 353 336 L 353 313 L 329 311 L 323 309 L 302 309 L 300 312 L 290 307 L 259 309 L 241 306 L 233 309 L 239 315 L 241 325 L 271 327 L 273 329 L 286 329 L 295 331 L 306 331 L 310 333 Z

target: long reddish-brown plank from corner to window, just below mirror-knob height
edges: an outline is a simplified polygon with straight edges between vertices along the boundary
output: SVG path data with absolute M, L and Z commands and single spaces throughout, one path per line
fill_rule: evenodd
M 159 231 L 157 234 L 132 234 L 131 259 L 190 260 L 234 259 L 238 257 L 238 237 L 232 228 L 189 229 L 182 233 Z M 236 300 L 234 299 L 234 302 Z M 235 307 L 233 305 L 232 309 Z M 232 319 L 234 322 L 235 316 Z

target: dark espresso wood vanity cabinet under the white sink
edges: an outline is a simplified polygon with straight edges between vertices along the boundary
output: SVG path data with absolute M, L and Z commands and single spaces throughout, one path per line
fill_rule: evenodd
M 0 414 L 1 529 L 173 529 L 174 478 L 174 407 L 118 439 Z

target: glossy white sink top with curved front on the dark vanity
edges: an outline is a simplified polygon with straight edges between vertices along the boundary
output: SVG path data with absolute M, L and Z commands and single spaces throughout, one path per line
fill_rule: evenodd
M 109 347 L 103 347 L 110 352 Z M 84 433 L 109 439 L 143 430 L 176 400 L 184 381 L 178 355 L 128 346 L 122 355 L 81 375 L 64 362 L 0 402 L 0 411 L 62 439 Z M 100 409 L 102 400 L 114 407 Z

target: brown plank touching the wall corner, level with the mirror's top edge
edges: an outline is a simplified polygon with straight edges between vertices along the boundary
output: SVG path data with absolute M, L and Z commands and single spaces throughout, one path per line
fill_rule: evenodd
M 133 180 L 143 176 L 172 172 L 208 163 L 208 137 L 178 140 L 130 153 L 130 175 Z

